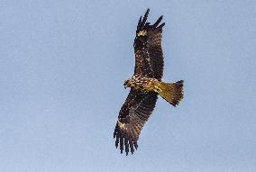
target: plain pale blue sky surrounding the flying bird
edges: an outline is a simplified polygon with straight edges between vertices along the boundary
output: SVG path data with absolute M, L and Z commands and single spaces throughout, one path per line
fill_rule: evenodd
M 164 15 L 159 99 L 126 157 L 113 131 L 140 15 Z M 0 1 L 1 172 L 256 171 L 256 1 Z

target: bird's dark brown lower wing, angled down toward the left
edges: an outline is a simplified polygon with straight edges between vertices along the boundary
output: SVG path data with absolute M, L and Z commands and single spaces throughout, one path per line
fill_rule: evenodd
M 157 93 L 142 92 L 140 90 L 131 89 L 126 98 L 114 129 L 115 147 L 120 146 L 121 153 L 123 147 L 128 152 L 134 152 L 134 148 L 138 148 L 137 140 L 142 131 L 142 127 L 149 119 L 155 104 L 157 102 Z

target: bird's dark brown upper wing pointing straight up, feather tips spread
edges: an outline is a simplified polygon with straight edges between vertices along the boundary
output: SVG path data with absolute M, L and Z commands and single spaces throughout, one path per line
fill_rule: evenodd
M 162 16 L 156 23 L 146 23 L 150 9 L 142 16 L 137 25 L 136 37 L 133 43 L 135 53 L 135 75 L 161 79 L 163 72 L 163 53 L 161 49 Z

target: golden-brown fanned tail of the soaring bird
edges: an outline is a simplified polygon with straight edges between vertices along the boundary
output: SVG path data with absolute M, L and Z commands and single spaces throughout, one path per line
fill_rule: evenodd
M 183 82 L 183 80 L 176 83 L 160 82 L 157 91 L 169 104 L 176 106 L 183 99 Z

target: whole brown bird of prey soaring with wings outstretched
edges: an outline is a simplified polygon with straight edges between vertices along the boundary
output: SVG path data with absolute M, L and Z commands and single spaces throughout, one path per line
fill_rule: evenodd
M 183 98 L 183 80 L 176 83 L 161 81 L 163 73 L 163 53 L 161 48 L 162 16 L 156 23 L 147 23 L 150 9 L 141 16 L 137 25 L 133 47 L 135 68 L 133 77 L 124 81 L 123 86 L 131 87 L 118 116 L 114 129 L 115 147 L 120 147 L 126 155 L 138 148 L 137 141 L 142 128 L 149 119 L 158 95 L 169 104 L 176 106 Z

